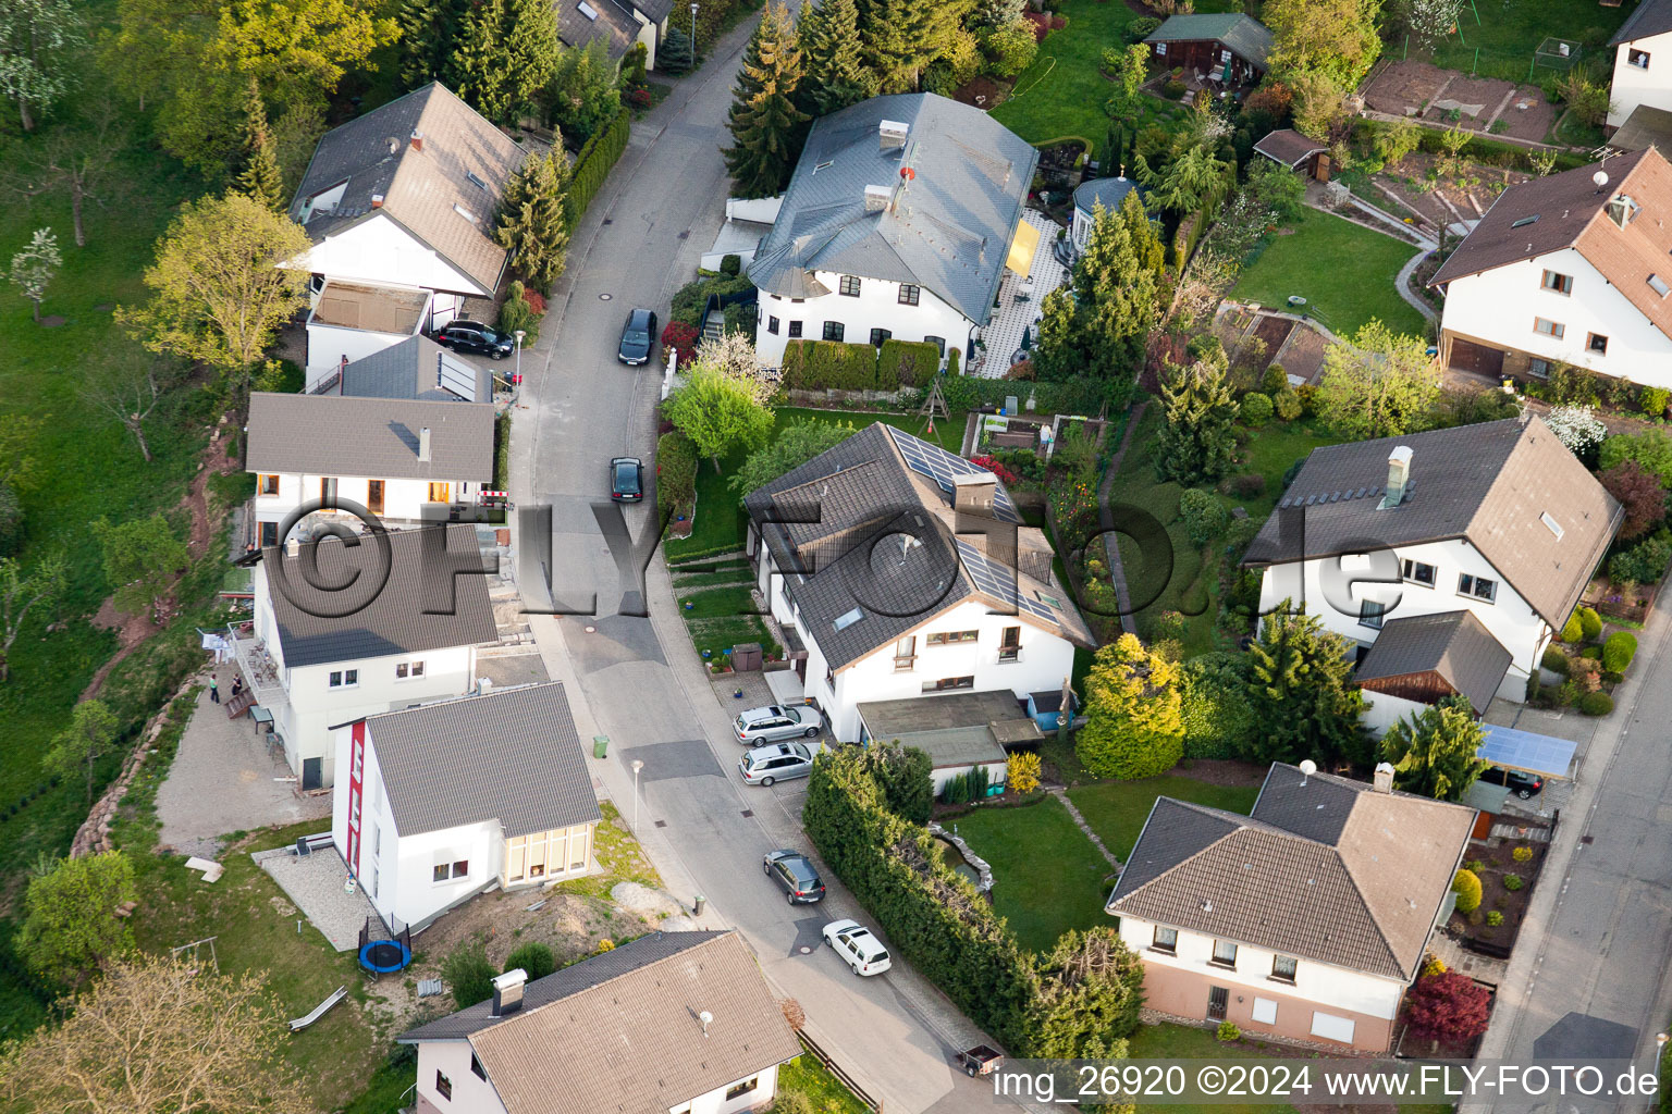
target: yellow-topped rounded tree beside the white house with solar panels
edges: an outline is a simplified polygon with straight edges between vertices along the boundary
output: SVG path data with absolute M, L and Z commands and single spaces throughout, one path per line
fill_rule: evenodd
M 1137 635 L 1097 651 L 1085 678 L 1085 715 L 1075 752 L 1097 777 L 1154 777 L 1184 757 L 1179 666 L 1145 650 Z

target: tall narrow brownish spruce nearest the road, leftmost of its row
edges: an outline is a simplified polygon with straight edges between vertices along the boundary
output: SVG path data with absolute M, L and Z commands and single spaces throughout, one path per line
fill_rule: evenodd
M 794 17 L 788 3 L 767 3 L 732 90 L 732 145 L 724 154 L 739 197 L 774 197 L 789 182 L 801 154 L 801 124 L 808 119 L 794 102 L 799 82 Z

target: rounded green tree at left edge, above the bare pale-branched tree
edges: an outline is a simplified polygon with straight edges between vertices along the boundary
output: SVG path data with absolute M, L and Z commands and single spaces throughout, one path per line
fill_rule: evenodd
M 18 954 L 43 979 L 79 982 L 134 947 L 134 934 L 115 910 L 135 897 L 134 863 L 122 852 L 59 858 L 28 880 Z

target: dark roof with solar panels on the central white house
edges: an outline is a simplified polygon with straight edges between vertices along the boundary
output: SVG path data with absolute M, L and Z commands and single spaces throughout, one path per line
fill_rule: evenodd
M 936 468 L 981 471 L 938 446 L 874 423 L 744 499 L 772 560 L 788 573 L 784 591 L 801 610 L 803 636 L 818 643 L 829 668 L 839 670 L 975 596 L 1020 606 L 1037 625 L 1078 645 L 1095 645 L 1073 610 L 1072 593 L 1052 576 L 1048 544 L 1030 534 L 1032 528 L 1018 529 L 1022 568 L 1010 578 L 1022 591 L 1020 601 L 1000 600 L 976 583 L 970 570 L 988 560 L 960 543 L 978 538 L 960 536 L 955 543 L 935 528 L 951 499 L 913 471 L 898 446 L 918 459 L 933 459 Z M 998 491 L 1003 493 L 1003 481 Z M 1000 513 L 1007 508 L 1010 499 L 1003 494 Z M 1013 511 L 1008 514 L 1015 521 Z M 923 544 L 903 554 L 898 544 L 873 544 L 901 531 L 921 536 Z M 856 583 L 868 585 L 864 603 L 854 593 Z M 1042 603 L 1038 591 L 1062 606 Z M 858 621 L 838 628 L 836 620 L 854 610 Z

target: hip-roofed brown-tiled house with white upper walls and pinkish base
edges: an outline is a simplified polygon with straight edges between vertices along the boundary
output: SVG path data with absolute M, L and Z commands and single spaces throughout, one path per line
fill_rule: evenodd
M 1274 763 L 1247 817 L 1159 797 L 1109 914 L 1144 1004 L 1383 1052 L 1475 810 Z

